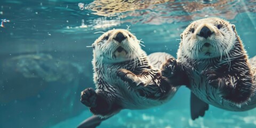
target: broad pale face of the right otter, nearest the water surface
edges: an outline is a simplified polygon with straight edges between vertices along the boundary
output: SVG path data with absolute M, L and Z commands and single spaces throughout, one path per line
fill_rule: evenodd
M 180 48 L 191 59 L 222 57 L 228 55 L 235 39 L 235 25 L 220 18 L 205 18 L 183 31 Z

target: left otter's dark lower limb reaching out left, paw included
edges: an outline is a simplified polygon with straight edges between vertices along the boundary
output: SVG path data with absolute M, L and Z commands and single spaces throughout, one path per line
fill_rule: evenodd
M 115 102 L 114 94 L 106 91 L 95 92 L 92 88 L 81 92 L 81 102 L 85 106 L 90 107 L 94 115 L 101 115 L 103 117 L 109 117 L 121 110 L 121 106 Z

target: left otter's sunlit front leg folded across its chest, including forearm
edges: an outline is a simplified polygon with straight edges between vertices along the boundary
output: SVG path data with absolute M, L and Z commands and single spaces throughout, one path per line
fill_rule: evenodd
M 152 76 L 147 71 L 143 71 L 141 75 L 135 75 L 129 70 L 119 69 L 116 73 L 123 81 L 128 82 L 133 87 L 146 86 L 152 80 Z

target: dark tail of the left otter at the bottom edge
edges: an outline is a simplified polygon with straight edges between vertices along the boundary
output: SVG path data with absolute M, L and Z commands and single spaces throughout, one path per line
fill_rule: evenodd
M 111 117 L 111 116 L 110 116 Z M 105 121 L 107 118 L 101 118 L 99 115 L 93 115 L 87 119 L 85 119 L 82 123 L 80 123 L 77 128 L 95 128 L 100 125 L 102 121 Z

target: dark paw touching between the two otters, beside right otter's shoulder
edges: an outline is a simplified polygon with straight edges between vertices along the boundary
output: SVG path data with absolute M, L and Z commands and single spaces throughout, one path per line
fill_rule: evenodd
M 177 68 L 178 64 L 174 58 L 168 59 L 162 66 L 162 75 L 164 77 L 172 77 L 174 76 L 175 69 Z

